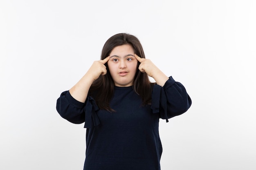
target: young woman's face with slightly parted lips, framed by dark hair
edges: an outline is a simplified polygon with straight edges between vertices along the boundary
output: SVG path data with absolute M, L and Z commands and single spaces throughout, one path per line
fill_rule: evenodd
M 130 44 L 116 46 L 111 51 L 108 68 L 115 86 L 128 87 L 133 85 L 137 62 Z

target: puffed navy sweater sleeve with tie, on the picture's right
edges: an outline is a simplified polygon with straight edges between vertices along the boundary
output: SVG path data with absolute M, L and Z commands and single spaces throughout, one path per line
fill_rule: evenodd
M 153 113 L 159 113 L 162 119 L 168 119 L 185 113 L 191 106 L 191 98 L 180 82 L 169 77 L 164 86 L 155 84 L 152 92 Z

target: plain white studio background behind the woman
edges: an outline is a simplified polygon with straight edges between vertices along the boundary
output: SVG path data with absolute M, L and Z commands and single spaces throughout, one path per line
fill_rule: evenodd
M 0 169 L 83 169 L 85 129 L 56 99 L 121 32 L 192 98 L 160 120 L 162 170 L 256 169 L 255 16 L 254 0 L 1 0 Z

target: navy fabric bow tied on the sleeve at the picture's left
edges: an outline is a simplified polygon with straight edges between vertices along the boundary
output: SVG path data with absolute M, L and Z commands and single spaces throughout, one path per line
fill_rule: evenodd
M 92 97 L 87 98 L 87 102 L 85 105 L 85 125 L 84 128 L 91 128 L 92 122 L 94 126 L 97 126 L 100 124 L 99 117 L 96 114 L 96 111 L 99 110 L 99 107 L 97 106 L 95 100 Z

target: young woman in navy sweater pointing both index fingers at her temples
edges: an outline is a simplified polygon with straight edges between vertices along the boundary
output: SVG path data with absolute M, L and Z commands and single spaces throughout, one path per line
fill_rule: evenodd
M 85 122 L 84 170 L 160 170 L 159 118 L 168 121 L 190 106 L 184 86 L 145 59 L 135 36 L 119 33 L 106 41 L 101 60 L 61 93 L 56 109 L 74 124 Z

